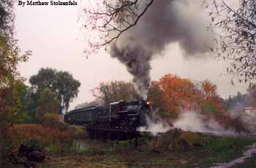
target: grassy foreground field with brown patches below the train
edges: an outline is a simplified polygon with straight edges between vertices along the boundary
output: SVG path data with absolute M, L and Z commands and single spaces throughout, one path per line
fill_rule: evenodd
M 69 152 L 48 150 L 46 161 L 39 167 L 211 167 L 238 158 L 254 142 L 255 139 L 189 132 L 175 137 L 168 132 L 159 139 L 144 140 L 139 146 L 130 145 L 129 141 L 92 141 L 88 148 Z M 255 167 L 255 164 L 253 156 L 237 167 Z

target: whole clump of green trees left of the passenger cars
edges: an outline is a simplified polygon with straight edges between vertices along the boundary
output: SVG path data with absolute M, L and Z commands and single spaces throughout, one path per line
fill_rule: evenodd
M 17 99 L 14 123 L 48 123 L 59 121 L 59 114 L 67 111 L 69 103 L 78 96 L 80 82 L 69 72 L 40 69 L 29 78 L 31 87 L 22 81 L 13 85 Z

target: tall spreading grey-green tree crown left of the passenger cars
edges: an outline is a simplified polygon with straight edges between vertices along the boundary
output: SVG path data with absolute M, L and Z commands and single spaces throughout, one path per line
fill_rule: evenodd
M 69 72 L 50 68 L 40 69 L 37 75 L 30 77 L 29 83 L 31 83 L 32 91 L 37 94 L 45 88 L 50 88 L 61 101 L 62 110 L 68 110 L 69 103 L 78 96 L 78 88 L 80 87 L 80 82 L 75 80 Z

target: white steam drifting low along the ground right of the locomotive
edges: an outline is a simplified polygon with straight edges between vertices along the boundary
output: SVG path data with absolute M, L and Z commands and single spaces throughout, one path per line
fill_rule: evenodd
M 218 121 L 214 120 L 214 118 L 208 118 L 206 115 L 200 115 L 199 112 L 195 111 L 181 112 L 178 119 L 173 122 L 173 126 L 162 121 L 157 117 L 156 112 L 153 112 L 153 117 L 146 117 L 146 126 L 140 126 L 137 130 L 151 132 L 154 136 L 158 133 L 165 133 L 170 129 L 181 129 L 183 131 L 201 132 L 217 136 L 255 136 L 256 116 L 243 113 L 242 115 L 236 115 L 236 117 L 239 117 L 242 121 L 237 124 L 244 124 L 246 129 L 249 129 L 250 132 L 238 132 L 232 127 L 225 129 Z

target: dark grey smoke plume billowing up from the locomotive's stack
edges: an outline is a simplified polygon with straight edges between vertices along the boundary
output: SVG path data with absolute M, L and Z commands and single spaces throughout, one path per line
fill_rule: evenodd
M 110 55 L 127 66 L 138 92 L 146 99 L 153 56 L 161 55 L 173 42 L 178 42 L 186 56 L 206 53 L 212 46 L 206 26 L 202 1 L 156 0 L 137 25 L 110 46 Z

